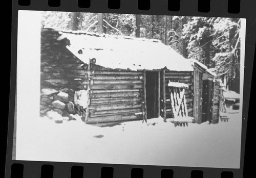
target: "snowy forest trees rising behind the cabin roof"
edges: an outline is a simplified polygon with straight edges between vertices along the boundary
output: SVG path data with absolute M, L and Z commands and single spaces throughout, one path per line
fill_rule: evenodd
M 240 19 L 80 12 L 42 12 L 42 28 L 159 39 L 200 61 L 240 93 Z

